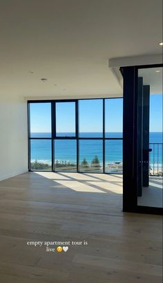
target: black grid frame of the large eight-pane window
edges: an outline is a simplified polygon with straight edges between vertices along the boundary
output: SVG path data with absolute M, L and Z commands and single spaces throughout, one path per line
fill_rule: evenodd
M 102 100 L 102 137 L 79 137 L 79 101 L 81 100 Z M 122 173 L 106 173 L 105 167 L 105 141 L 106 140 L 122 140 L 123 143 L 123 135 L 122 137 L 105 137 L 105 101 L 106 99 L 122 99 L 123 97 L 97 97 L 97 98 L 86 98 L 86 99 L 48 99 L 48 100 L 28 100 L 28 170 L 32 171 L 41 171 L 41 172 L 72 172 L 68 170 L 55 170 L 55 139 L 75 139 L 77 141 L 77 170 L 74 171 L 75 173 L 99 173 L 99 174 L 118 174 L 122 175 Z M 57 137 L 56 133 L 56 104 L 61 102 L 75 102 L 75 137 Z M 37 104 L 37 103 L 50 103 L 51 104 L 51 137 L 30 137 L 30 104 Z M 31 170 L 30 168 L 30 140 L 31 139 L 50 139 L 51 140 L 51 154 L 52 154 L 52 166 L 51 170 Z M 82 139 L 93 139 L 93 140 L 102 140 L 102 158 L 103 158 L 103 166 L 102 172 L 93 172 L 93 171 L 81 171 L 79 170 L 79 141 Z

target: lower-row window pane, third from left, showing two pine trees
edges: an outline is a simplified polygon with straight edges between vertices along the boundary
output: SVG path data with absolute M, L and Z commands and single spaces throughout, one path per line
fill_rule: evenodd
M 102 172 L 102 140 L 83 139 L 79 141 L 79 170 L 81 172 Z

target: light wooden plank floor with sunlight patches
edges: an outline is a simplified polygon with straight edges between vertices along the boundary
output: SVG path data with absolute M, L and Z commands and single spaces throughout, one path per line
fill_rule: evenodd
M 162 282 L 162 218 L 122 213 L 121 175 L 26 173 L 0 196 L 0 282 Z M 27 245 L 84 240 L 66 253 Z

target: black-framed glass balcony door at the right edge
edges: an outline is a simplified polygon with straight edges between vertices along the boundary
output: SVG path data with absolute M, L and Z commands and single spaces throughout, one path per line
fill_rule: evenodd
M 121 68 L 124 77 L 124 211 L 162 213 L 162 64 Z

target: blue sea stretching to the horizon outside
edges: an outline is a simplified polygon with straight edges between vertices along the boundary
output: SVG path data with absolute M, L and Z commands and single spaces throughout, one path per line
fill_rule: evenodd
M 74 137 L 73 133 L 58 133 L 59 137 Z M 50 137 L 50 133 L 31 133 L 31 137 Z M 80 133 L 79 137 L 102 137 L 102 133 Z M 106 133 L 106 137 L 122 138 L 122 133 Z M 162 143 L 162 133 L 150 133 L 150 143 Z M 74 139 L 57 139 L 54 143 L 55 161 L 76 163 L 76 141 Z M 79 164 L 86 158 L 88 164 L 97 155 L 102 164 L 102 140 L 79 140 Z M 106 140 L 105 142 L 106 164 L 122 163 L 122 140 Z M 153 148 L 153 145 L 151 145 Z M 31 139 L 31 162 L 43 162 L 51 164 L 51 141 L 47 139 Z M 162 166 L 162 145 L 155 145 L 150 159 Z M 153 155 L 154 153 L 154 155 Z

